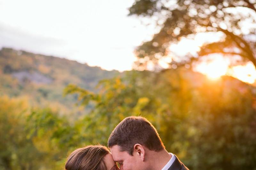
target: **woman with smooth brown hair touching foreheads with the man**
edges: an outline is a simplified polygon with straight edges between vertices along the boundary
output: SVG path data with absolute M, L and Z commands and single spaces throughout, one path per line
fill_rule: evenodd
M 66 170 L 117 170 L 108 148 L 100 145 L 89 145 L 73 151 L 65 165 Z

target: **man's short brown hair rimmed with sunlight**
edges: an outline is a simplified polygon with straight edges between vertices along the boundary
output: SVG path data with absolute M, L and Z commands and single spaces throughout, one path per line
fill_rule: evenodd
M 118 145 L 121 151 L 126 151 L 130 155 L 132 155 L 135 144 L 141 144 L 156 152 L 165 148 L 155 127 L 141 116 L 126 117 L 108 138 L 109 148 Z

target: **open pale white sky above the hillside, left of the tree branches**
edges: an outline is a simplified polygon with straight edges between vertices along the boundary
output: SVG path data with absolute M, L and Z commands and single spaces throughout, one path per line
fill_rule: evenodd
M 0 48 L 131 70 L 154 27 L 128 17 L 134 0 L 0 0 Z

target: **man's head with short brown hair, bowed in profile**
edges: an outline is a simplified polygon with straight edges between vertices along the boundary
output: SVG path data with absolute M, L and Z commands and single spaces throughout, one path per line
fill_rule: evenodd
M 108 147 L 114 161 L 124 170 L 147 169 L 150 153 L 164 150 L 154 126 L 140 116 L 127 117 L 120 122 L 108 139 Z

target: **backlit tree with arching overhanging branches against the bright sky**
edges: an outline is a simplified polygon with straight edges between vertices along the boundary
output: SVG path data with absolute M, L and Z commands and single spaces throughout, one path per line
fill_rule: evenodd
M 129 9 L 129 15 L 157 18 L 161 26 L 151 41 L 136 48 L 140 59 L 137 66 L 145 67 L 148 61 L 157 64 L 159 59 L 170 53 L 170 43 L 179 41 L 181 37 L 219 31 L 223 38 L 204 44 L 198 56 L 214 53 L 231 57 L 239 55 L 242 62 L 251 61 L 256 66 L 256 43 L 250 38 L 256 33 L 255 4 L 255 0 L 136 0 Z M 160 20 L 164 20 L 163 24 Z M 198 58 L 188 54 L 169 64 L 183 65 Z

